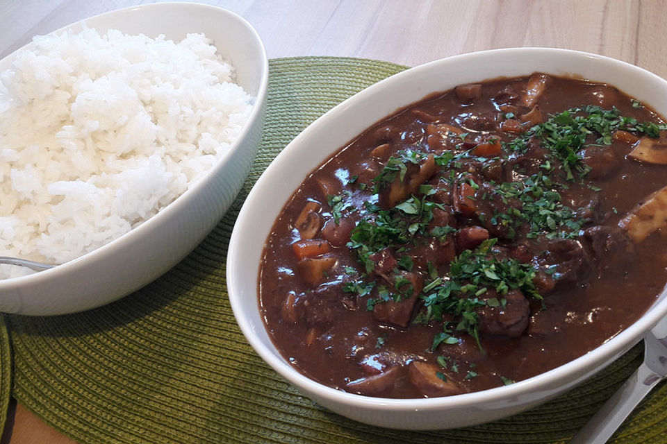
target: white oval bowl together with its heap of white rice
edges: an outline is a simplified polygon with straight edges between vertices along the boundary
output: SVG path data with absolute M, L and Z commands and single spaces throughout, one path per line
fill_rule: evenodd
M 188 255 L 252 165 L 268 62 L 244 19 L 155 3 L 66 26 L 0 60 L 0 311 L 99 307 Z

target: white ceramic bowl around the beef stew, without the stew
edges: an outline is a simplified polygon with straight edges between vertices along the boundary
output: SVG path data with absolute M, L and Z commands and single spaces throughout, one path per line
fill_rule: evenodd
M 446 429 L 475 425 L 518 413 L 572 388 L 629 350 L 667 314 L 667 298 L 661 298 L 639 321 L 575 361 L 509 386 L 445 398 L 397 400 L 337 391 L 297 372 L 274 347 L 258 309 L 258 268 L 274 219 L 308 173 L 372 123 L 431 92 L 534 71 L 559 76 L 576 74 L 610 83 L 667 115 L 667 82 L 625 62 L 563 49 L 520 48 L 468 53 L 396 74 L 340 103 L 298 135 L 259 178 L 231 236 L 227 290 L 238 324 L 249 343 L 299 391 L 336 413 L 381 427 Z

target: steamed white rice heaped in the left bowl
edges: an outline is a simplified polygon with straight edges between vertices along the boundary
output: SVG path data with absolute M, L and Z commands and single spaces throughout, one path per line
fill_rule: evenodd
M 67 262 L 154 216 L 247 121 L 233 79 L 200 34 L 35 37 L 0 73 L 0 256 Z

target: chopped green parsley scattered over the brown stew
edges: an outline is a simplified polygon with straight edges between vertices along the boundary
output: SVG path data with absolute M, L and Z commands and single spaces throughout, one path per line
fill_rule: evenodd
M 514 116 L 508 113 L 504 117 L 511 119 Z M 594 105 L 553 114 L 547 121 L 533 126 L 516 139 L 503 142 L 504 149 L 525 152 L 530 148 L 532 139 L 538 139 L 547 153 L 546 160 L 540 165 L 541 172 L 524 176 L 516 182 L 490 182 L 488 190 L 481 189 L 481 182 L 471 176 L 466 178 L 465 171 L 461 171 L 467 160 L 477 159 L 474 148 L 456 154 L 445 151 L 436 155 L 435 161 L 443 168 L 441 180 L 449 182 L 450 186 L 456 180 L 464 180 L 467 185 L 479 190 L 476 196 L 478 199 L 502 203 L 493 205 L 493 214 L 478 214 L 482 224 L 504 226 L 509 239 L 516 237 L 519 232 L 529 238 L 571 238 L 579 235 L 588 220 L 579 216 L 577 209 L 563 203 L 561 191 L 567 186 L 560 183 L 559 178 L 575 180 L 586 176 L 590 167 L 583 161 L 582 150 L 591 145 L 610 145 L 616 130 L 659 137 L 659 131 L 664 129 L 662 125 L 640 123 L 634 118 L 623 117 L 616 108 L 603 110 Z M 464 138 L 461 137 L 461 140 Z M 418 148 L 397 151 L 386 162 L 379 176 L 373 179 L 373 192 L 377 194 L 397 179 L 404 180 L 408 169 L 419 167 L 428 156 L 429 153 L 419 151 Z M 482 157 L 479 161 L 487 162 L 488 159 Z M 596 187 L 588 186 L 595 191 Z M 372 256 L 374 253 L 388 248 L 395 255 L 395 271 L 402 269 L 412 272 L 415 263 L 406 252 L 415 245 L 415 241 L 419 242 L 415 239 L 435 237 L 438 241 L 446 242 L 450 234 L 456 232 L 450 226 L 429 228 L 433 210 L 436 207 L 444 209 L 443 205 L 430 200 L 436 192 L 436 187 L 425 183 L 420 185 L 417 194 L 389 210 L 381 209 L 374 203 L 366 203 L 361 210 L 362 217 L 352 230 L 347 246 L 356 252 L 362 271 L 359 280 L 348 282 L 344 289 L 358 296 L 367 296 L 368 309 L 373 309 L 374 305 L 383 301 L 400 301 L 413 293 L 412 283 L 400 275 L 389 285 L 386 282 L 375 284 L 379 278 L 372 275 L 377 266 L 377 258 Z M 329 196 L 329 205 L 336 222 L 343 212 L 358 210 L 349 203 L 348 197 L 349 194 Z M 493 246 L 496 242 L 497 239 L 488 239 L 475 250 L 464 250 L 450 263 L 447 275 L 438 275 L 436 267 L 428 264 L 427 279 L 420 293 L 423 307 L 414 322 L 442 323 L 442 330 L 434 335 L 431 350 L 441 345 L 458 343 L 457 335 L 461 333 L 470 334 L 481 349 L 477 311 L 485 306 L 504 307 L 507 304 L 504 296 L 511 289 L 520 289 L 527 297 L 542 300 L 533 282 L 536 269 L 516 259 L 495 255 Z M 495 291 L 494 296 L 486 296 L 492 289 Z M 371 297 L 371 293 L 374 296 Z M 450 321 L 443 322 L 443 318 Z M 438 363 L 446 368 L 444 357 L 438 359 Z M 475 375 L 470 370 L 466 379 Z M 511 383 L 509 379 L 501 379 L 505 384 Z

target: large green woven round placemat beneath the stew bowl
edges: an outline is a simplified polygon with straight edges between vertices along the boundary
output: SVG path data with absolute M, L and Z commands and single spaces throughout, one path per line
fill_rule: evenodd
M 15 398 L 80 443 L 566 442 L 639 365 L 641 346 L 526 413 L 466 429 L 400 432 L 347 420 L 299 395 L 234 321 L 224 262 L 252 183 L 308 123 L 402 69 L 352 58 L 272 60 L 263 142 L 227 216 L 183 262 L 127 298 L 69 316 L 8 316 Z M 666 442 L 666 404 L 662 385 L 611 442 Z

